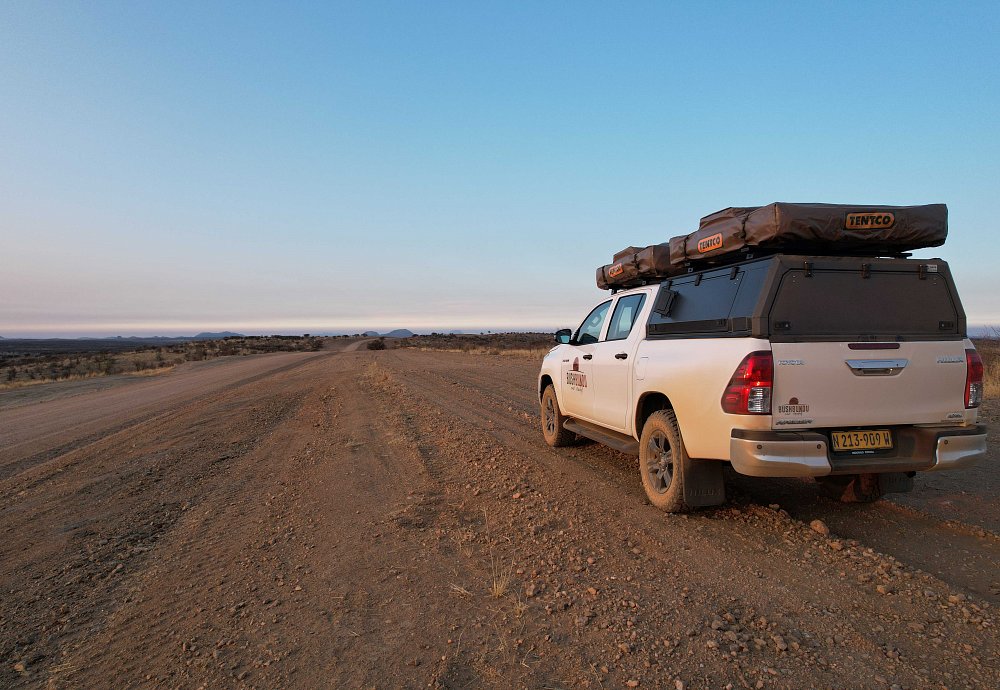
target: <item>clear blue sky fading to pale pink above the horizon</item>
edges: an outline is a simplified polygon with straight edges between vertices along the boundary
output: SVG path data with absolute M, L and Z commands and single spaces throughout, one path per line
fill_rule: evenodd
M 0 3 L 0 335 L 549 328 L 732 205 L 945 202 L 1000 324 L 1000 7 Z

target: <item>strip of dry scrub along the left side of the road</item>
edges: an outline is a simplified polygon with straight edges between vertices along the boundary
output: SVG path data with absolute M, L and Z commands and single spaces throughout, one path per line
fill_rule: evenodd
M 24 341 L 30 343 L 31 341 Z M 57 353 L 24 349 L 0 353 L 0 389 L 128 374 L 152 376 L 170 371 L 183 362 L 216 357 L 234 357 L 268 352 L 312 352 L 323 349 L 323 339 L 311 336 L 234 336 L 221 340 L 192 340 L 161 347 L 136 345 L 112 352 L 88 352 L 87 341 L 77 351 Z

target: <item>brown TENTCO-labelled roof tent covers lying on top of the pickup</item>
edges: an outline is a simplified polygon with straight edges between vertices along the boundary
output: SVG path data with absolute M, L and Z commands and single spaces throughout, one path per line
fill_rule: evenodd
M 698 229 L 643 249 L 627 247 L 597 269 L 602 290 L 640 285 L 749 255 L 902 256 L 944 244 L 948 207 L 789 204 L 732 207 Z

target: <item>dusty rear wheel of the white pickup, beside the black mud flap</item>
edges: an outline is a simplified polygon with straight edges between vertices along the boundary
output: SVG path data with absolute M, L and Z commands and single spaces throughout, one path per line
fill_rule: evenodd
M 639 477 L 649 502 L 667 513 L 690 510 L 684 502 L 684 470 L 689 464 L 673 410 L 649 415 L 639 437 Z

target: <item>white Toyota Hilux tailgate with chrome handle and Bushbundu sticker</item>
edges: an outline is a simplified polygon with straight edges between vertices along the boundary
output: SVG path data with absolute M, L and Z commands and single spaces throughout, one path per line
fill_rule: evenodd
M 961 340 L 901 342 L 898 349 L 772 343 L 773 428 L 961 423 L 965 347 Z

